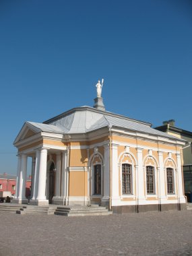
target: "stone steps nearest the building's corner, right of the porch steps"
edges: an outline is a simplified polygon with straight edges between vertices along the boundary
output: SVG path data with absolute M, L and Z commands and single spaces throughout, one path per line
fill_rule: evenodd
M 63 205 L 58 206 L 54 214 L 61 216 L 106 216 L 113 214 L 113 212 L 109 212 L 106 207 L 101 207 L 99 205 Z

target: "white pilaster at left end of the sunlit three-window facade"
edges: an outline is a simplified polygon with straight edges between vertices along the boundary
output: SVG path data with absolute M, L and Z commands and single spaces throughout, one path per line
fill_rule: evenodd
M 117 205 L 119 201 L 119 168 L 118 168 L 118 145 L 112 144 L 112 206 Z

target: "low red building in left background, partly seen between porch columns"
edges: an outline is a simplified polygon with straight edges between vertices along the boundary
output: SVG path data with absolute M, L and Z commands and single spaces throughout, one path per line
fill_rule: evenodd
M 16 175 L 9 175 L 6 172 L 0 174 L 0 191 L 11 191 L 12 195 L 15 195 L 16 190 Z M 26 181 L 26 197 L 30 196 L 31 189 L 31 176 Z

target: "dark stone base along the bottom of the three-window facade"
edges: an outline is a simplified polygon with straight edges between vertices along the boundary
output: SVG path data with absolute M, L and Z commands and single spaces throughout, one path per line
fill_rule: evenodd
M 163 212 L 168 210 L 186 210 L 185 203 L 167 203 L 167 204 L 150 204 L 150 205 L 121 205 L 112 207 L 114 214 L 129 214 L 139 212 Z

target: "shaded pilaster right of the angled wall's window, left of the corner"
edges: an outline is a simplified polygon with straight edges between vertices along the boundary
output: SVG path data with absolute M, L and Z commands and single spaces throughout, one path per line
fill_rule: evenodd
M 104 145 L 104 168 L 103 168 L 103 197 L 102 205 L 108 204 L 109 200 L 109 144 Z

